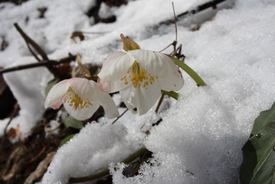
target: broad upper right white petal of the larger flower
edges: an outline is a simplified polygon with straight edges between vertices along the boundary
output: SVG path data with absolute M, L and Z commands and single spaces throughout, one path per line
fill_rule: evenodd
M 143 69 L 159 78 L 164 78 L 175 71 L 175 63 L 162 53 L 144 49 L 128 51 L 140 63 Z

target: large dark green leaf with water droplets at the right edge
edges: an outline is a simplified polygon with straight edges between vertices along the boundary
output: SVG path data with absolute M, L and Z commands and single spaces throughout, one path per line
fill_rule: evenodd
M 255 119 L 250 139 L 242 148 L 243 184 L 275 183 L 275 102 Z

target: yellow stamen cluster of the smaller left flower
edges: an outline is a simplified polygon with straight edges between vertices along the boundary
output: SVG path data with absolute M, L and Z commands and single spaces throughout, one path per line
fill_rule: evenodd
M 68 92 L 64 94 L 64 103 L 69 103 L 72 106 L 72 110 L 77 111 L 83 108 L 88 108 L 93 104 L 90 101 L 84 101 L 80 98 L 71 87 L 68 88 Z

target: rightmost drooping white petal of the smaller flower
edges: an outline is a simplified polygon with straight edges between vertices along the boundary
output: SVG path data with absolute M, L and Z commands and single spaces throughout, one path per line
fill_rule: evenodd
M 105 97 L 99 101 L 101 102 L 101 105 L 103 106 L 105 114 L 109 119 L 119 116 L 117 106 L 115 105 L 113 98 L 109 94 L 106 93 Z

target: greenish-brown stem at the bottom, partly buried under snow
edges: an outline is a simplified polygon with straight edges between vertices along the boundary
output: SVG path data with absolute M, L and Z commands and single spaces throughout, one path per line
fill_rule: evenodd
M 132 155 L 130 155 L 129 157 L 122 160 L 121 162 L 128 164 L 131 161 L 135 160 L 137 157 L 142 156 L 146 151 L 147 151 L 147 149 L 145 148 L 145 146 L 143 146 L 142 148 L 140 148 L 139 150 L 134 152 Z M 69 183 L 80 183 L 80 182 L 85 182 L 85 181 L 91 181 L 91 180 L 98 179 L 103 176 L 109 175 L 109 172 L 110 172 L 109 169 L 105 169 L 103 171 L 100 171 L 98 173 L 95 173 L 95 174 L 92 174 L 89 176 L 79 177 L 79 178 L 70 178 Z

